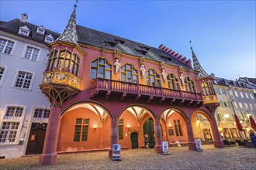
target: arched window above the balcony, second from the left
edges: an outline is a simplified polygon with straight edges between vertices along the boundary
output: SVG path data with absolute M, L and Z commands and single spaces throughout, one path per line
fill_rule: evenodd
M 121 81 L 138 83 L 138 70 L 131 63 L 126 63 L 121 67 Z

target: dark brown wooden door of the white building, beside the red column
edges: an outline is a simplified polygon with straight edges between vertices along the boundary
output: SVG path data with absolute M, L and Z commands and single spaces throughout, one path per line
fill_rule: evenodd
M 47 124 L 33 123 L 31 126 L 29 141 L 26 147 L 26 155 L 41 154 L 47 132 Z

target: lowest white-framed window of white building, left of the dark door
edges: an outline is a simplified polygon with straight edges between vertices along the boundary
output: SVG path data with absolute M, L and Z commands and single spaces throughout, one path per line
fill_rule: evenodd
M 2 122 L 0 131 L 0 143 L 15 142 L 18 128 L 19 122 Z

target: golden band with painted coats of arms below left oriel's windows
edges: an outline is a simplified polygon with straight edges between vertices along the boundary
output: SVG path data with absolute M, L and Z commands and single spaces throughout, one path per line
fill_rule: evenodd
M 72 73 L 68 73 L 65 71 L 54 70 L 50 72 L 43 73 L 43 83 L 57 83 L 64 84 L 74 87 L 77 90 L 80 90 L 80 82 L 81 80 L 78 76 L 74 76 Z

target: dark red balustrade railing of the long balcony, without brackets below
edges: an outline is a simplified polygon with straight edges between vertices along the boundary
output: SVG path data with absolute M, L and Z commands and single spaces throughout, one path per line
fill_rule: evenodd
M 201 93 L 192 93 L 182 90 L 171 90 L 163 87 L 152 87 L 137 83 L 128 83 L 117 80 L 106 80 L 97 78 L 92 80 L 92 91 L 108 91 L 119 92 L 119 93 L 130 93 L 142 96 L 150 97 L 161 97 L 161 98 L 171 98 L 178 100 L 197 100 L 202 101 Z M 92 95 L 93 97 L 94 95 Z

